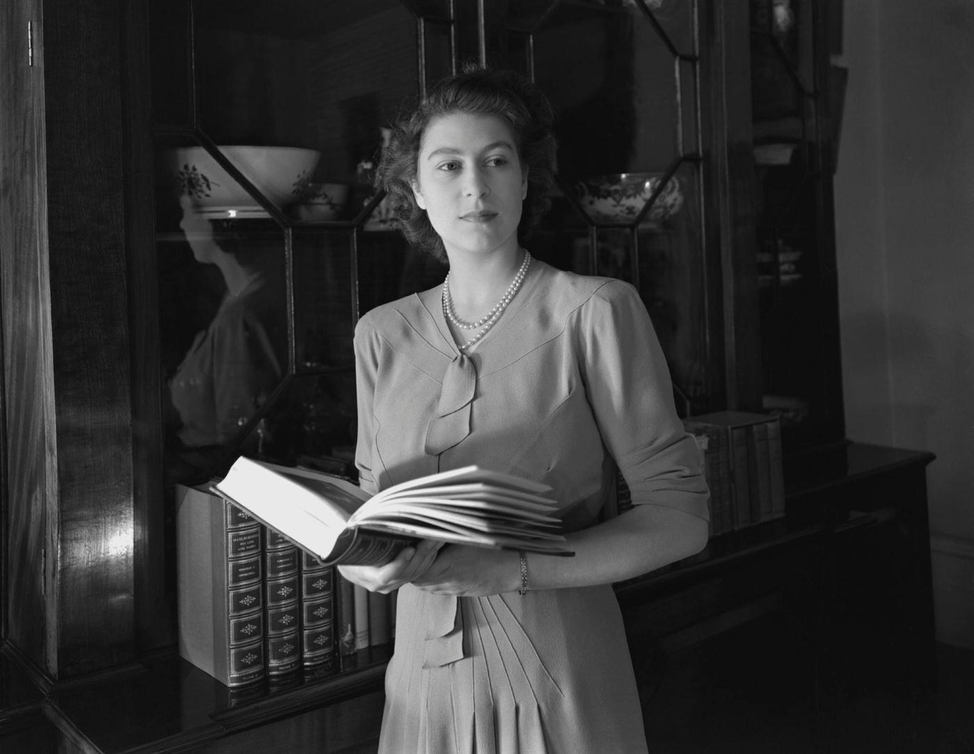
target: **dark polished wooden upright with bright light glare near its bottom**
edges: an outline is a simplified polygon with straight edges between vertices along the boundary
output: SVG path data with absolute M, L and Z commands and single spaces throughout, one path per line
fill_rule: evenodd
M 44 5 L 57 677 L 133 654 L 122 5 Z

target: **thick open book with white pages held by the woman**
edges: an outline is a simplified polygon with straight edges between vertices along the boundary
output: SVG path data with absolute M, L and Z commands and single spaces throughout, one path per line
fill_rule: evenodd
M 338 476 L 242 456 L 212 489 L 324 563 L 382 565 L 420 539 L 574 554 L 549 487 L 476 466 L 370 497 Z

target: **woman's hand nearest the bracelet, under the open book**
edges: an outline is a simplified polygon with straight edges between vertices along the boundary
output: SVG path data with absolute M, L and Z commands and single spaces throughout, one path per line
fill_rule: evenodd
M 426 573 L 412 584 L 433 594 L 460 597 L 517 591 L 521 561 L 507 549 L 450 545 L 439 550 Z

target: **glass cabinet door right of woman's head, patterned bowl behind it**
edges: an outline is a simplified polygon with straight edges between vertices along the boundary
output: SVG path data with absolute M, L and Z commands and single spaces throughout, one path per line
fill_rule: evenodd
M 555 106 L 558 183 L 532 253 L 633 283 L 681 408 L 723 399 L 705 249 L 698 14 L 693 0 L 505 5 L 498 57 Z

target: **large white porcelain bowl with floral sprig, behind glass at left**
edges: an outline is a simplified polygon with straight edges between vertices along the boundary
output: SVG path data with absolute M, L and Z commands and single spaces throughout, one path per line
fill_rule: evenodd
M 301 199 L 321 157 L 317 149 L 300 147 L 230 145 L 217 148 L 278 207 L 287 207 Z M 172 149 L 167 158 L 176 193 L 188 197 L 198 210 L 243 213 L 262 210 L 203 147 Z

